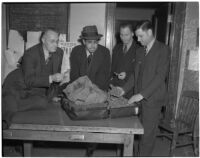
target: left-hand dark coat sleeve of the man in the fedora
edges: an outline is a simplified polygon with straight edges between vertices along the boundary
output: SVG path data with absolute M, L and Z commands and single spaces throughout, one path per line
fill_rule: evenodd
M 72 49 L 70 55 L 70 82 L 75 81 L 79 77 L 79 61 L 78 61 L 78 49 L 75 47 Z

